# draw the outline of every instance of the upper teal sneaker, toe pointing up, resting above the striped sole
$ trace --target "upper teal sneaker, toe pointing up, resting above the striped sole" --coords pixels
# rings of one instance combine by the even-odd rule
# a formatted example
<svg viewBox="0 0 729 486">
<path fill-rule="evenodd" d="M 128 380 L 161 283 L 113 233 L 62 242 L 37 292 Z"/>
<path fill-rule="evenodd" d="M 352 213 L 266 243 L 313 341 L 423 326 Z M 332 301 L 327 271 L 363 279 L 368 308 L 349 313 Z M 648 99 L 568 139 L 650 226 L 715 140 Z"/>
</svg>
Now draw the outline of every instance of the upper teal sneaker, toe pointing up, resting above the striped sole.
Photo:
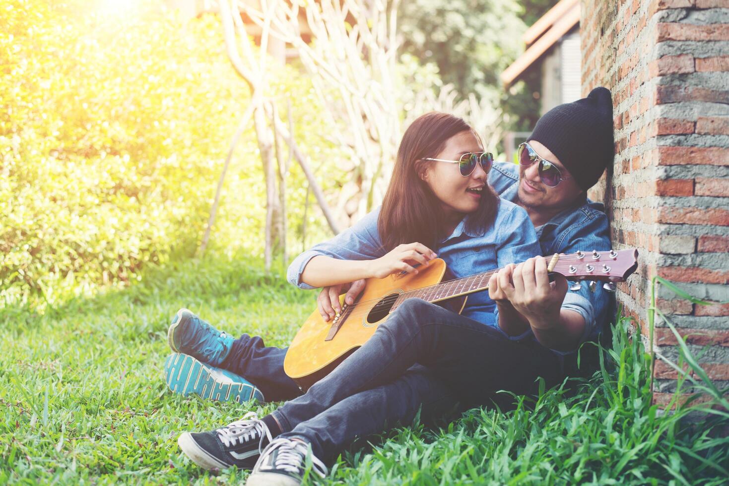
<svg viewBox="0 0 729 486">
<path fill-rule="evenodd" d="M 214 367 L 227 358 L 233 341 L 233 336 L 218 331 L 187 309 L 177 311 L 167 330 L 167 342 L 173 351 L 189 354 Z"/>
</svg>

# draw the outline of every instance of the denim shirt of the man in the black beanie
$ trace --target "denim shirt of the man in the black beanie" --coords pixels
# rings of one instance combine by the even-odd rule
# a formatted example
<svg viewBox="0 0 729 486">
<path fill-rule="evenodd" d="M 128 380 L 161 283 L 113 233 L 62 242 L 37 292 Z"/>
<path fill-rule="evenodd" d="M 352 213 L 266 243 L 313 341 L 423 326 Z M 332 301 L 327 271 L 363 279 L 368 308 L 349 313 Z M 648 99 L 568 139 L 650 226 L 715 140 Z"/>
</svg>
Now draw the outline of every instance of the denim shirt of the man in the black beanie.
<svg viewBox="0 0 729 486">
<path fill-rule="evenodd" d="M 494 162 L 488 174 L 488 184 L 496 193 L 516 202 L 518 200 L 519 166 L 510 162 Z M 577 253 L 580 251 L 609 251 L 610 224 L 604 213 L 604 206 L 585 200 L 572 208 L 555 215 L 549 222 L 537 227 L 542 255 L 555 253 Z M 612 294 L 598 283 L 596 291 L 590 291 L 582 283 L 579 291 L 567 291 L 562 303 L 563 309 L 574 310 L 585 319 L 585 332 L 580 342 L 597 339 L 603 326 L 612 317 Z M 531 330 L 512 339 L 521 339 L 531 334 Z"/>
</svg>

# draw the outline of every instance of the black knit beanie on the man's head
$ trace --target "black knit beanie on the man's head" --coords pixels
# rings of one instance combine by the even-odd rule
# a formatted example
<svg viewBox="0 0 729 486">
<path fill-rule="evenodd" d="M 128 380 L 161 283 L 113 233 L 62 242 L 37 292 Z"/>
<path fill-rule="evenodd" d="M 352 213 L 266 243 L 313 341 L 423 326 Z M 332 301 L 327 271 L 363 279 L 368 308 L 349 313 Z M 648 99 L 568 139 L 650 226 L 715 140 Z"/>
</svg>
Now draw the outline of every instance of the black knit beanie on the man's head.
<svg viewBox="0 0 729 486">
<path fill-rule="evenodd" d="M 541 142 L 557 156 L 586 191 L 612 165 L 612 97 L 596 87 L 587 98 L 564 103 L 547 111 L 527 139 Z"/>
</svg>

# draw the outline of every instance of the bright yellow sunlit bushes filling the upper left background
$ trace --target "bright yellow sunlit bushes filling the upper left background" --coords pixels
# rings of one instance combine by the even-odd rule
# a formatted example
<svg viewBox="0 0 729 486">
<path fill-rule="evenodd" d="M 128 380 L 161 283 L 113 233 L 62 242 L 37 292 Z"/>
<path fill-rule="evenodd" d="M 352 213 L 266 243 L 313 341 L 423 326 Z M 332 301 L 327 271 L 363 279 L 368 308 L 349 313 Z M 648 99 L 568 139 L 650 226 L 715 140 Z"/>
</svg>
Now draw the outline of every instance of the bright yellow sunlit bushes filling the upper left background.
<svg viewBox="0 0 729 486">
<path fill-rule="evenodd" d="M 107 2 L 108 3 L 108 2 Z M 8 0 L 0 12 L 0 307 L 45 305 L 198 246 L 222 161 L 249 100 L 219 21 L 159 1 Z M 295 136 L 343 179 L 308 79 L 281 66 L 271 93 Z M 287 150 L 284 150 L 287 154 Z M 265 186 L 250 127 L 236 149 L 212 246 L 260 253 Z M 316 167 L 316 164 L 315 164 Z M 289 227 L 306 184 L 292 164 Z M 317 225 L 308 212 L 308 232 Z M 298 243 L 300 244 L 300 243 Z"/>
</svg>

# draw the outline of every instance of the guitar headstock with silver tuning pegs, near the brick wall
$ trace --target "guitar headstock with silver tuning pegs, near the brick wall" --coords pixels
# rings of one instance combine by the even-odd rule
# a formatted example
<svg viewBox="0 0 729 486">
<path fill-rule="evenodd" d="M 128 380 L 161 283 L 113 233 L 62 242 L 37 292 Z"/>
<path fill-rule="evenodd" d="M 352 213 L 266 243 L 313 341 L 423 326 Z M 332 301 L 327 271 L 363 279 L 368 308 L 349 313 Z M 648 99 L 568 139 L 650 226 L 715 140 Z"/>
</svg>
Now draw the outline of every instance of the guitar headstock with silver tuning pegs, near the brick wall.
<svg viewBox="0 0 729 486">
<path fill-rule="evenodd" d="M 638 250 L 590 251 L 560 254 L 550 271 L 568 280 L 623 282 L 638 268 Z"/>
</svg>

